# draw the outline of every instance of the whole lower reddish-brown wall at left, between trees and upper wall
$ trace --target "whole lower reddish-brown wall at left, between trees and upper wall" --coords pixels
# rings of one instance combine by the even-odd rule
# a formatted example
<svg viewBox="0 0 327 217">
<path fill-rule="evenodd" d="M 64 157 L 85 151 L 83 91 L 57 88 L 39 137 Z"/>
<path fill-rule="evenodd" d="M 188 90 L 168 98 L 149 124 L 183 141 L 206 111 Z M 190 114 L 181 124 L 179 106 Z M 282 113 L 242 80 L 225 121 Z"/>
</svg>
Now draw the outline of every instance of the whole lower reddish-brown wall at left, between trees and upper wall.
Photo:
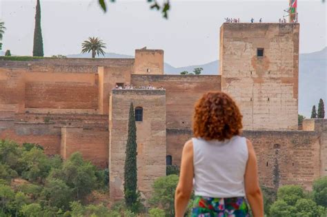
<svg viewBox="0 0 327 217">
<path fill-rule="evenodd" d="M 79 131 L 68 130 L 68 134 L 66 131 L 63 134 L 61 128 L 65 126 Z M 38 143 L 46 154 L 61 154 L 64 158 L 80 151 L 101 167 L 108 165 L 108 136 L 107 115 L 17 113 L 0 121 L 0 139 Z"/>
</svg>

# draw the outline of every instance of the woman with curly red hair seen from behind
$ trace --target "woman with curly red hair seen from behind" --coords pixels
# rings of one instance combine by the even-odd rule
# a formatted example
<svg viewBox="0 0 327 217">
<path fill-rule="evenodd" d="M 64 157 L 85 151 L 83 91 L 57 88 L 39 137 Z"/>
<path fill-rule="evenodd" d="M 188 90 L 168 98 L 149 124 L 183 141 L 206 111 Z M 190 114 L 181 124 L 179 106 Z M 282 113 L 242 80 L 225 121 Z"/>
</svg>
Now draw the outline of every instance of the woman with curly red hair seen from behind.
<svg viewBox="0 0 327 217">
<path fill-rule="evenodd" d="M 252 143 L 240 136 L 242 116 L 223 92 L 208 92 L 195 105 L 194 138 L 186 142 L 175 192 L 175 213 L 184 216 L 194 188 L 192 216 L 264 216 Z"/>
</svg>

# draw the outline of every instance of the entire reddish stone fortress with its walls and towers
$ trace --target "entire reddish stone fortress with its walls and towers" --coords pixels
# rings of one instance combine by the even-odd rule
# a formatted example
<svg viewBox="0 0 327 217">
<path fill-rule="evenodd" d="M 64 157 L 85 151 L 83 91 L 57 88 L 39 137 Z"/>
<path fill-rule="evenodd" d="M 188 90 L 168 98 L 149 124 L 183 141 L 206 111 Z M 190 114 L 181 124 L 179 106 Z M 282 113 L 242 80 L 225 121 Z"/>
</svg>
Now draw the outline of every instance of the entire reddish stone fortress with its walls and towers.
<svg viewBox="0 0 327 217">
<path fill-rule="evenodd" d="M 119 200 L 132 102 L 138 187 L 148 197 L 166 164 L 181 161 L 195 101 L 221 90 L 241 107 L 261 185 L 310 189 L 327 175 L 327 121 L 307 119 L 298 130 L 299 23 L 224 23 L 219 60 L 221 74 L 213 76 L 164 74 L 164 51 L 146 48 L 135 59 L 1 60 L 0 138 L 38 143 L 63 158 L 81 152 L 109 167 L 110 198 Z"/>
</svg>

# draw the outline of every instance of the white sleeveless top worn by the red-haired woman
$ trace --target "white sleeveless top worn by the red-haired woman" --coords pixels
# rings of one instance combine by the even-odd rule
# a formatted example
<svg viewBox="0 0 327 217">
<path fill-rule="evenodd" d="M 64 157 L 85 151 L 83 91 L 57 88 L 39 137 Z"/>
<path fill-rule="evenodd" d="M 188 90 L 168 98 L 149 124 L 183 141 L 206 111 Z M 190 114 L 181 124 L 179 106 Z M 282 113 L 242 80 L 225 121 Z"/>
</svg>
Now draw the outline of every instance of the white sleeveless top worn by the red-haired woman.
<svg viewBox="0 0 327 217">
<path fill-rule="evenodd" d="M 192 142 L 195 195 L 212 198 L 245 196 L 246 138 L 233 136 L 224 142 L 192 138 Z"/>
</svg>

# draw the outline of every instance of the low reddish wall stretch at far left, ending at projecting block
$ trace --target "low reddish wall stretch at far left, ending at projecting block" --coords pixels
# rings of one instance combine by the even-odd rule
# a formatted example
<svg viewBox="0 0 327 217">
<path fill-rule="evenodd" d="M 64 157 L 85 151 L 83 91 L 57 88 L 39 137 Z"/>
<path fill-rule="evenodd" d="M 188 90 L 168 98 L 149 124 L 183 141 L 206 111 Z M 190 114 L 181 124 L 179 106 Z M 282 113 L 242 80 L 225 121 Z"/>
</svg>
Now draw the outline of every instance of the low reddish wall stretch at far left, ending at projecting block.
<svg viewBox="0 0 327 217">
<path fill-rule="evenodd" d="M 61 130 L 53 124 L 0 121 L 0 139 L 23 143 L 37 143 L 46 154 L 60 154 Z"/>
</svg>

